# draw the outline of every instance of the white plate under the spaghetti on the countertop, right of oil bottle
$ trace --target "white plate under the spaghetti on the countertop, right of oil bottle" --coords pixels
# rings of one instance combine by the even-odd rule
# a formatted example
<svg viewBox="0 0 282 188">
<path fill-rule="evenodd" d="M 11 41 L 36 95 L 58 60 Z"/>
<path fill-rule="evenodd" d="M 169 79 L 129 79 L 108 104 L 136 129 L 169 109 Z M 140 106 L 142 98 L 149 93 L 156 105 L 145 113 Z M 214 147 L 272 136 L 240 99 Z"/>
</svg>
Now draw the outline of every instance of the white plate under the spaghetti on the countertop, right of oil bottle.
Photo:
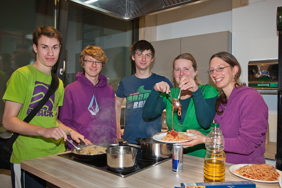
<svg viewBox="0 0 282 188">
<path fill-rule="evenodd" d="M 248 178 L 248 177 L 246 177 L 246 176 L 242 176 L 241 174 L 239 174 L 238 172 L 236 172 L 236 170 L 238 170 L 239 168 L 241 168 L 241 167 L 244 167 L 244 166 L 246 166 L 246 165 L 249 165 L 249 166 L 251 166 L 252 164 L 237 164 L 237 165 L 232 165 L 230 168 L 229 168 L 229 171 L 232 173 L 232 174 L 234 174 L 234 175 L 236 175 L 236 176 L 239 176 L 239 177 L 241 177 L 241 178 L 244 178 L 244 179 L 246 179 L 246 180 L 251 180 L 251 181 L 254 181 L 254 182 L 262 182 L 262 183 L 277 183 L 278 182 L 278 180 L 271 180 L 271 181 L 268 181 L 268 180 L 259 180 L 259 179 L 252 179 L 252 178 Z M 263 164 L 264 165 L 264 164 Z M 268 165 L 269 166 L 269 165 Z M 265 168 L 265 167 L 263 167 L 263 166 L 261 166 L 261 168 Z M 274 168 L 273 168 L 274 169 Z M 282 172 L 281 171 L 279 171 L 279 170 L 277 170 L 277 169 L 274 169 L 276 172 L 278 172 L 278 174 L 280 175 L 280 176 L 282 176 Z M 265 173 L 266 174 L 264 174 L 264 175 L 269 175 L 269 169 L 262 169 L 261 171 L 265 171 Z M 279 178 L 279 177 L 278 177 Z"/>
</svg>

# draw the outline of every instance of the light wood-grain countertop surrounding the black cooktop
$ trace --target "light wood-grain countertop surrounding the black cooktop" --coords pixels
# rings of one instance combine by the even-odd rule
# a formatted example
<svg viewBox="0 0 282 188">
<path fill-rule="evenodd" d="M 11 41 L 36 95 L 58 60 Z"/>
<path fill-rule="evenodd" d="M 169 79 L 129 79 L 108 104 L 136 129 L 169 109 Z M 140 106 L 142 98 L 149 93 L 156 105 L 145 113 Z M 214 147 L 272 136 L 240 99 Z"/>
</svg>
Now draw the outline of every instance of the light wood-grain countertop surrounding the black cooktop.
<svg viewBox="0 0 282 188">
<path fill-rule="evenodd" d="M 174 188 L 180 186 L 181 182 L 203 182 L 204 159 L 189 155 L 183 157 L 183 172 L 181 173 L 172 172 L 172 160 L 168 160 L 126 178 L 57 155 L 22 161 L 21 168 L 62 188 Z M 229 171 L 229 167 L 232 165 L 226 163 L 225 181 L 244 181 L 243 178 L 239 178 Z M 257 188 L 280 188 L 279 183 L 254 183 Z"/>
</svg>

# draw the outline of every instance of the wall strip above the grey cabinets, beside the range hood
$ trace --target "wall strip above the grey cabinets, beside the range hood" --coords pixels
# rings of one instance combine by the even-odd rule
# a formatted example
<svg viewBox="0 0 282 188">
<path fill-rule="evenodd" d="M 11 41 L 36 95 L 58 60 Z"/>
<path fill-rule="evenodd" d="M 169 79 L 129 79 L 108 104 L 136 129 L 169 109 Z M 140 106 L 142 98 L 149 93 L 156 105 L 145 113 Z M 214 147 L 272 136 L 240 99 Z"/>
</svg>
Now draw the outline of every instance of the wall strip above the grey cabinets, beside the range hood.
<svg viewBox="0 0 282 188">
<path fill-rule="evenodd" d="M 210 0 L 157 14 L 157 41 L 232 32 L 232 0 Z"/>
</svg>

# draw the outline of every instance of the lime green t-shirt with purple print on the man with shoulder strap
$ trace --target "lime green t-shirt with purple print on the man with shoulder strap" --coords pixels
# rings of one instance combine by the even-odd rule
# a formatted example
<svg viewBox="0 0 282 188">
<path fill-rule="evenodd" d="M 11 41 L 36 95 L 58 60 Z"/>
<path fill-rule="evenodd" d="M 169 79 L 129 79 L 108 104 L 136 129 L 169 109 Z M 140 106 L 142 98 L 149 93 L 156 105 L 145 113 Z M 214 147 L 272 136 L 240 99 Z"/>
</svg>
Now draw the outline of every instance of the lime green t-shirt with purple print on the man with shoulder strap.
<svg viewBox="0 0 282 188">
<path fill-rule="evenodd" d="M 45 74 L 33 65 L 27 65 L 17 69 L 7 82 L 7 89 L 3 100 L 14 101 L 23 104 L 18 118 L 24 120 L 27 114 L 38 104 L 47 93 L 52 80 L 51 73 Z M 41 110 L 29 122 L 41 127 L 58 127 L 56 121 L 56 107 L 63 105 L 64 87 L 60 84 L 55 94 L 41 108 Z M 56 141 L 54 138 L 42 136 L 29 136 L 20 134 L 13 144 L 11 163 L 20 163 L 23 160 L 47 156 L 65 151 L 63 139 Z"/>
</svg>

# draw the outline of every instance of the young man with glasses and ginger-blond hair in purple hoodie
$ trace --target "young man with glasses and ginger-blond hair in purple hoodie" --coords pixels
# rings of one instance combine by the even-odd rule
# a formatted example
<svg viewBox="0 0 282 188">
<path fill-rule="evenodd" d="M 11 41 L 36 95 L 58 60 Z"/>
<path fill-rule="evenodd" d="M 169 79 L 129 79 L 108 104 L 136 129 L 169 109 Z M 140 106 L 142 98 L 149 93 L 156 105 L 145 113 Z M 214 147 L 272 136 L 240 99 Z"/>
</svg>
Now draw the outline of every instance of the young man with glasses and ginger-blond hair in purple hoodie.
<svg viewBox="0 0 282 188">
<path fill-rule="evenodd" d="M 114 90 L 100 74 L 106 62 L 107 57 L 100 47 L 86 46 L 80 54 L 83 72 L 78 72 L 76 81 L 65 88 L 60 108 L 61 122 L 83 133 L 86 144 L 116 138 Z M 72 147 L 69 144 L 69 148 Z"/>
</svg>

